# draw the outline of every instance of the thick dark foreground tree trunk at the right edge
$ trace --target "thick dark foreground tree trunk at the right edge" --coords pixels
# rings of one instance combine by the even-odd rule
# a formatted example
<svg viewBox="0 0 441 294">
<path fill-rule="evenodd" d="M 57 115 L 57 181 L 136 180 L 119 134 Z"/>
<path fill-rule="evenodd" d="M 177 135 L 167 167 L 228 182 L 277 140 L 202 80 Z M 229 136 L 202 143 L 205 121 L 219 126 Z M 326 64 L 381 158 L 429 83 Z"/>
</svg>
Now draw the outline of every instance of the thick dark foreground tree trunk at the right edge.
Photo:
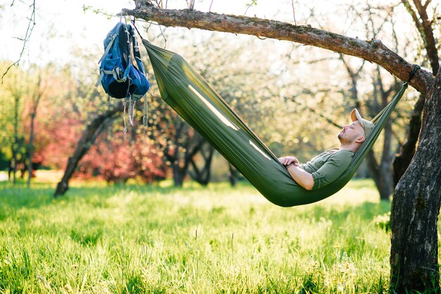
<svg viewBox="0 0 441 294">
<path fill-rule="evenodd" d="M 441 75 L 430 87 L 420 141 L 392 200 L 391 288 L 439 290 L 437 219 L 441 197 Z M 428 292 L 425 292 L 428 293 Z"/>
</svg>

